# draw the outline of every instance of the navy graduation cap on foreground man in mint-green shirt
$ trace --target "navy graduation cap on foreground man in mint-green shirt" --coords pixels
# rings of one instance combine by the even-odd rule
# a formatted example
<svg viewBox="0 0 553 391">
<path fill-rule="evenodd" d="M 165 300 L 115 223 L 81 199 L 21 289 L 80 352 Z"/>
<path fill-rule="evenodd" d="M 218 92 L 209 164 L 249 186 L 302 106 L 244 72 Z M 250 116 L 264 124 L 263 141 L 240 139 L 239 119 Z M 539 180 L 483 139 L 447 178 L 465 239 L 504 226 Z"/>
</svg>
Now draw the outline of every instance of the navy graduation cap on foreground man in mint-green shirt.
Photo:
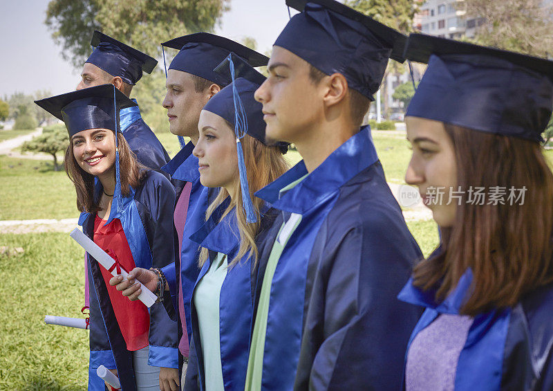
<svg viewBox="0 0 553 391">
<path fill-rule="evenodd" d="M 274 42 L 370 100 L 378 91 L 388 59 L 404 62 L 406 37 L 334 0 L 286 0 L 301 13 L 288 21 Z"/>
</svg>

